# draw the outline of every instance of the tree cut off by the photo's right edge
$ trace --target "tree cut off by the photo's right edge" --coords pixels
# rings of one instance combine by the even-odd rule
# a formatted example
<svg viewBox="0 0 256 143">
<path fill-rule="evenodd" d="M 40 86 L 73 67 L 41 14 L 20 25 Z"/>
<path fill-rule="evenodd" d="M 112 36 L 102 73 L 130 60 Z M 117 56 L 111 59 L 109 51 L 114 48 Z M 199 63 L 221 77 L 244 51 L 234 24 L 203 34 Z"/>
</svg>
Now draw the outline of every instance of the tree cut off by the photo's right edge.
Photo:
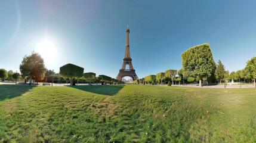
<svg viewBox="0 0 256 143">
<path fill-rule="evenodd" d="M 251 60 L 248 60 L 246 62 L 245 70 L 248 76 L 251 77 L 252 80 L 254 80 L 254 86 L 256 88 L 256 57 L 252 57 Z"/>
</svg>

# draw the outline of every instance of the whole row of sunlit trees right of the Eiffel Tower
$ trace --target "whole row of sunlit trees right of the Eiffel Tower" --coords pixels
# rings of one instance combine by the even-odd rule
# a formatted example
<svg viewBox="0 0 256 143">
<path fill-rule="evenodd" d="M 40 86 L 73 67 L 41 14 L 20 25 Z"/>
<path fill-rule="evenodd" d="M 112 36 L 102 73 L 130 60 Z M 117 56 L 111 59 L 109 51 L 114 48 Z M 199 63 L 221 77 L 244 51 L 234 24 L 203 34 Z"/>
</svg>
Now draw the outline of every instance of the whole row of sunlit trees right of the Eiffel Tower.
<svg viewBox="0 0 256 143">
<path fill-rule="evenodd" d="M 251 60 L 248 60 L 244 69 L 229 73 L 220 60 L 218 60 L 218 64 L 215 64 L 209 43 L 203 43 L 184 51 L 181 54 L 181 60 L 183 68 L 180 70 L 169 69 L 165 72 L 146 76 L 140 80 L 134 81 L 134 83 L 167 84 L 171 82 L 173 85 L 174 82 L 178 84 L 180 84 L 180 82 L 183 82 L 183 84 L 199 82 L 199 86 L 202 86 L 202 82 L 221 83 L 233 79 L 236 82 L 253 81 L 256 87 L 256 57 L 252 57 Z"/>
</svg>

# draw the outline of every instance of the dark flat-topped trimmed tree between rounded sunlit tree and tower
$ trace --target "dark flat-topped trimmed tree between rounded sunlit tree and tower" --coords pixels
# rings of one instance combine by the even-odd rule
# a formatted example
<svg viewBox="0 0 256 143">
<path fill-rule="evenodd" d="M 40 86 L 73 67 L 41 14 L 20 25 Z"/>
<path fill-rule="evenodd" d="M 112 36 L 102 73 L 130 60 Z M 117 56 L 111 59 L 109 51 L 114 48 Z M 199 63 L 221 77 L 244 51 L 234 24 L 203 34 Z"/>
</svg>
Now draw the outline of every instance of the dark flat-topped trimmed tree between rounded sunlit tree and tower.
<svg viewBox="0 0 256 143">
<path fill-rule="evenodd" d="M 70 77 L 70 85 L 73 85 L 73 78 L 82 77 L 84 75 L 84 68 L 69 63 L 60 67 L 60 74 L 64 77 Z"/>
</svg>

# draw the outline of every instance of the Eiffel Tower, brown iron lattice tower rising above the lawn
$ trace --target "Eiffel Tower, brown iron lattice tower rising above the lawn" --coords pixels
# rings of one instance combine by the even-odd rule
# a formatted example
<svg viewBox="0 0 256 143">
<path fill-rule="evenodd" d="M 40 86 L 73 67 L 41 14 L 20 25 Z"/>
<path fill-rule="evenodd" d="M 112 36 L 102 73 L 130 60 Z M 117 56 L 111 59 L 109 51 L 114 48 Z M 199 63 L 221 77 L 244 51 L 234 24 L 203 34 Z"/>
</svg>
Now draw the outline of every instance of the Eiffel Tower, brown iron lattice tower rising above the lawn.
<svg viewBox="0 0 256 143">
<path fill-rule="evenodd" d="M 129 69 L 125 69 L 125 66 L 129 65 Z M 121 69 L 119 70 L 117 80 L 122 80 L 123 77 L 129 76 L 132 80 L 138 80 L 138 76 L 135 73 L 135 70 L 132 67 L 131 55 L 129 53 L 129 29 L 127 27 L 127 43 L 125 46 L 125 57 Z"/>
</svg>

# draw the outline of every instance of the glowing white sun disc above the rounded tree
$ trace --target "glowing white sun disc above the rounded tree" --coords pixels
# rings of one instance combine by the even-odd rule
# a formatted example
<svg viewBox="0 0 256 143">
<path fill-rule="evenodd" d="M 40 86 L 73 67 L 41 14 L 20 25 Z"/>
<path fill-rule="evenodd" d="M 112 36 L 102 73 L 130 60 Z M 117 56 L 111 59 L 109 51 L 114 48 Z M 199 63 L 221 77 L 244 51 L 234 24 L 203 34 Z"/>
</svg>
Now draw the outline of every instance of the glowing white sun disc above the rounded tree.
<svg viewBox="0 0 256 143">
<path fill-rule="evenodd" d="M 56 47 L 52 41 L 45 39 L 38 43 L 36 52 L 38 52 L 44 60 L 53 60 L 55 55 Z"/>
</svg>

